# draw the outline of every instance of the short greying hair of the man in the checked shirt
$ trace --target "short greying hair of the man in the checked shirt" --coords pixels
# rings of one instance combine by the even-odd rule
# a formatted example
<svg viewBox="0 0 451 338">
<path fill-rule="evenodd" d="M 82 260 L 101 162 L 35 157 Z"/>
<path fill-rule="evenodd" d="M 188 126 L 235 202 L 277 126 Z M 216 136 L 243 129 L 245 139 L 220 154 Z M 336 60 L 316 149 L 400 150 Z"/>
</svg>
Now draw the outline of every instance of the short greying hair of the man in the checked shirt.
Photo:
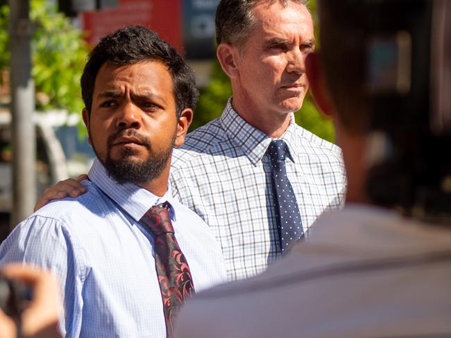
<svg viewBox="0 0 451 338">
<path fill-rule="evenodd" d="M 299 3 L 307 7 L 308 0 L 221 0 L 216 8 L 216 42 L 240 47 L 252 35 L 255 19 L 253 8 L 260 3 L 268 6 L 279 2 L 283 7 Z"/>
</svg>

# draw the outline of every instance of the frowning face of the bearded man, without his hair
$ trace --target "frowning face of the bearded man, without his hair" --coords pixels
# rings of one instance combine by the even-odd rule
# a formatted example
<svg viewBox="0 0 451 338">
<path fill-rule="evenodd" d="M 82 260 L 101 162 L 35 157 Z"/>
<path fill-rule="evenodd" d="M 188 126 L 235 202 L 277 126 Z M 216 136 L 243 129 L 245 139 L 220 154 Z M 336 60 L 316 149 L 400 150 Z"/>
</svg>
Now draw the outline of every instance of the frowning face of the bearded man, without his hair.
<svg viewBox="0 0 451 338">
<path fill-rule="evenodd" d="M 176 102 L 167 67 L 156 61 L 103 64 L 88 124 L 97 157 L 120 183 L 143 183 L 169 168 Z"/>
</svg>

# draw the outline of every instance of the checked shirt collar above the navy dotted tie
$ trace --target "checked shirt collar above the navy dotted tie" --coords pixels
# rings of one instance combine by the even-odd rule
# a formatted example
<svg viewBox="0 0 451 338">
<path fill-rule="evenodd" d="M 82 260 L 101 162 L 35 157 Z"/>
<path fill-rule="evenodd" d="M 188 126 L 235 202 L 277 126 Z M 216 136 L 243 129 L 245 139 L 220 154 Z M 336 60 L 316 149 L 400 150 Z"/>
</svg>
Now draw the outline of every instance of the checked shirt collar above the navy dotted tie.
<svg viewBox="0 0 451 338">
<path fill-rule="evenodd" d="M 262 160 L 269 147 L 269 143 L 273 139 L 244 121 L 235 109 L 233 109 L 232 98 L 229 98 L 226 108 L 223 110 L 221 125 L 230 139 L 233 139 L 241 150 L 243 150 L 249 161 L 254 166 L 257 166 L 257 163 Z M 296 122 L 294 121 L 293 113 L 291 113 L 290 124 L 280 139 L 287 143 L 289 159 L 294 162 L 295 157 L 293 154 L 296 153 L 294 151 L 296 149 Z"/>
</svg>

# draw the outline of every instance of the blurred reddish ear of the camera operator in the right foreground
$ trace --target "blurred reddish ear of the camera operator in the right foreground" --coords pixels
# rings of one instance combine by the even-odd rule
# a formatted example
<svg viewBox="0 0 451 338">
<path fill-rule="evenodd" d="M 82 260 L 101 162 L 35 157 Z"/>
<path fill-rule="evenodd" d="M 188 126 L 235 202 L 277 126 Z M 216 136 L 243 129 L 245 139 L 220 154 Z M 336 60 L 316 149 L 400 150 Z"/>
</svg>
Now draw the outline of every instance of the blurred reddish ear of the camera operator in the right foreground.
<svg viewBox="0 0 451 338">
<path fill-rule="evenodd" d="M 307 78 L 309 79 L 310 92 L 314 98 L 316 106 L 326 116 L 333 117 L 334 109 L 332 100 L 325 83 L 325 74 L 321 68 L 321 62 L 317 52 L 307 55 L 307 60 L 305 60 L 305 69 Z"/>
</svg>

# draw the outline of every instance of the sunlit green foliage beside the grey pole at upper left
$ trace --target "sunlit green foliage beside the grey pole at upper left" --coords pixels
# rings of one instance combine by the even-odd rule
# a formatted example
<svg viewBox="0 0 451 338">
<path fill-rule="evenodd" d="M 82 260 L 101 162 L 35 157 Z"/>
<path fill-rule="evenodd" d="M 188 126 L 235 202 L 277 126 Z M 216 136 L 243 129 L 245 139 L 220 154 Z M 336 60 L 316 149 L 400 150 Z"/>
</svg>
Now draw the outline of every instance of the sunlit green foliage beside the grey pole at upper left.
<svg viewBox="0 0 451 338">
<path fill-rule="evenodd" d="M 0 8 L 0 71 L 9 66 L 8 6 Z M 83 108 L 80 76 L 88 52 L 82 33 L 56 11 L 55 1 L 31 0 L 35 26 L 32 42 L 36 109 Z M 8 52 L 6 52 L 8 51 Z"/>
</svg>

